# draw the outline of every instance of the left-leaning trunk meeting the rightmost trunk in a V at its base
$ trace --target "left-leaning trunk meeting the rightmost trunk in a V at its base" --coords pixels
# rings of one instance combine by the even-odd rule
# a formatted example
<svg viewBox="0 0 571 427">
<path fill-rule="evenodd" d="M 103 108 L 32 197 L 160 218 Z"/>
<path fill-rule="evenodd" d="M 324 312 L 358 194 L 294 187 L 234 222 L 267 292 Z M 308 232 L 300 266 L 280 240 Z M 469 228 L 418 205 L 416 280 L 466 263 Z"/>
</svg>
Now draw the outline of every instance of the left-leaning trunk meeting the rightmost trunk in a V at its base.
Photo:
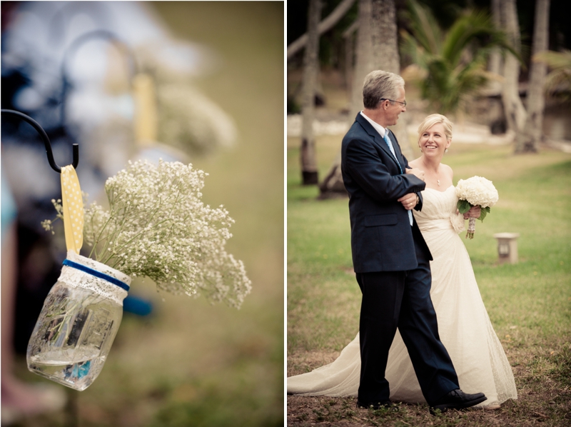
<svg viewBox="0 0 571 427">
<path fill-rule="evenodd" d="M 515 0 L 502 0 L 500 11 L 502 13 L 502 25 L 512 42 L 512 46 L 517 51 L 520 51 L 520 26 L 517 23 Z M 512 54 L 506 55 L 503 75 L 505 81 L 502 90 L 502 103 L 504 104 L 507 129 L 517 133 L 518 129 L 523 128 L 526 112 L 520 99 L 518 88 L 520 63 Z"/>
</svg>

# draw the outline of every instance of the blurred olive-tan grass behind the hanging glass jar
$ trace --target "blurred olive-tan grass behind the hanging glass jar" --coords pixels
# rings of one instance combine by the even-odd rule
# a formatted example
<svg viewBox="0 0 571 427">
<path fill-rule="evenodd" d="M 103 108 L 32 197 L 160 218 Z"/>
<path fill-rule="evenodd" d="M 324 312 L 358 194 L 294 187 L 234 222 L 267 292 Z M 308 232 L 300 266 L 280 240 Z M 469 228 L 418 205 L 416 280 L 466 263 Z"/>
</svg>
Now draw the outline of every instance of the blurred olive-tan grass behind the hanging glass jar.
<svg viewBox="0 0 571 427">
<path fill-rule="evenodd" d="M 236 220 L 228 252 L 244 261 L 253 291 L 238 311 L 134 283 L 132 293 L 153 301 L 153 316 L 123 316 L 101 375 L 70 391 L 75 422 L 56 413 L 18 426 L 283 426 L 283 4 L 148 6 L 173 36 L 221 59 L 195 83 L 232 116 L 239 140 L 192 161 L 209 174 L 206 203 L 224 204 Z M 25 361 L 19 375 L 43 381 Z"/>
</svg>

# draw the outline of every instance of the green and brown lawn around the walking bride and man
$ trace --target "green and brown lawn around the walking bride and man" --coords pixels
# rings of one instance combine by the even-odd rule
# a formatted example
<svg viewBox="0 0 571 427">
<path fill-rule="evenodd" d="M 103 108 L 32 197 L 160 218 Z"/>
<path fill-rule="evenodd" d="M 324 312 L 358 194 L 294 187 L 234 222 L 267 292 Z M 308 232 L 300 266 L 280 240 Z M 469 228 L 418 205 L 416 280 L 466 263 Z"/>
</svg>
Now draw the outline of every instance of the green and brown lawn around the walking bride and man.
<svg viewBox="0 0 571 427">
<path fill-rule="evenodd" d="M 320 176 L 340 136 L 319 138 Z M 490 319 L 515 374 L 517 401 L 498 411 L 429 416 L 425 406 L 355 408 L 354 398 L 288 396 L 288 425 L 568 426 L 571 424 L 571 155 L 511 146 L 456 144 L 445 156 L 455 182 L 494 182 L 500 201 L 465 244 Z M 288 141 L 288 376 L 330 363 L 358 331 L 360 291 L 350 256 L 347 199 L 317 201 L 300 185 Z M 520 233 L 519 263 L 497 263 L 494 233 Z"/>
</svg>

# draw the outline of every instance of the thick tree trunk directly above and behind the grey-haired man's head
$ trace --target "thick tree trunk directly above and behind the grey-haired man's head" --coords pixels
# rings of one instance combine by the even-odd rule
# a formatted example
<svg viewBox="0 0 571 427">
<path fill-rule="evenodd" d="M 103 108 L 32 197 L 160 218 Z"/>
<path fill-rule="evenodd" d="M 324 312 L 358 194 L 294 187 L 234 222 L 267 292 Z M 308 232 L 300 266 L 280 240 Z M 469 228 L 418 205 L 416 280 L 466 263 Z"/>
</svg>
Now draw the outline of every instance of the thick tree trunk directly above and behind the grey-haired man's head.
<svg viewBox="0 0 571 427">
<path fill-rule="evenodd" d="M 395 0 L 373 0 L 372 39 L 373 66 L 368 72 L 384 70 L 400 74 Z M 405 157 L 413 160 L 414 151 L 408 137 L 407 125 L 406 114 L 400 114 L 397 124 L 392 126 L 391 130 L 399 139 L 400 149 Z"/>
</svg>

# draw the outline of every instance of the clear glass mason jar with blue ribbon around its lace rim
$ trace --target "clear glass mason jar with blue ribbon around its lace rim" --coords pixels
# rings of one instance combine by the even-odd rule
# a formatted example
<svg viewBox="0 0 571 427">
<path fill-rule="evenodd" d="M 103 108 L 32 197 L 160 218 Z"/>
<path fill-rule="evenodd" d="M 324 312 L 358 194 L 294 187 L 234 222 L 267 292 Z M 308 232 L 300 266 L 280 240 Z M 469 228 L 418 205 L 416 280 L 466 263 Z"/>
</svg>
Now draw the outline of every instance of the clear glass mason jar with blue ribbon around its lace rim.
<svg viewBox="0 0 571 427">
<path fill-rule="evenodd" d="M 29 370 L 75 390 L 89 387 L 117 334 L 130 283 L 121 271 L 69 251 L 31 334 Z"/>
</svg>

